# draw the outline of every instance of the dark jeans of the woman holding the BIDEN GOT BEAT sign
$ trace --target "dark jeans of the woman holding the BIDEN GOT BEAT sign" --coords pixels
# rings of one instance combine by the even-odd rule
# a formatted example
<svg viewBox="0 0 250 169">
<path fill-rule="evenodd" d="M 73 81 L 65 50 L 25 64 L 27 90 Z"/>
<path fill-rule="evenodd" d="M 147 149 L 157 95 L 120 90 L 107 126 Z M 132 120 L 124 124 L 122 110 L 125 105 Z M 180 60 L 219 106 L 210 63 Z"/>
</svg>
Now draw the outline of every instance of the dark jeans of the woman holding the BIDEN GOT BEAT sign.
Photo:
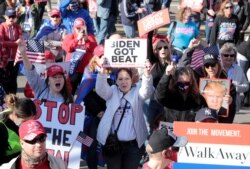
<svg viewBox="0 0 250 169">
<path fill-rule="evenodd" d="M 142 155 L 145 152 L 145 146 L 138 147 L 137 142 L 122 142 L 122 151 L 113 156 L 104 156 L 108 169 L 137 169 Z"/>
</svg>

